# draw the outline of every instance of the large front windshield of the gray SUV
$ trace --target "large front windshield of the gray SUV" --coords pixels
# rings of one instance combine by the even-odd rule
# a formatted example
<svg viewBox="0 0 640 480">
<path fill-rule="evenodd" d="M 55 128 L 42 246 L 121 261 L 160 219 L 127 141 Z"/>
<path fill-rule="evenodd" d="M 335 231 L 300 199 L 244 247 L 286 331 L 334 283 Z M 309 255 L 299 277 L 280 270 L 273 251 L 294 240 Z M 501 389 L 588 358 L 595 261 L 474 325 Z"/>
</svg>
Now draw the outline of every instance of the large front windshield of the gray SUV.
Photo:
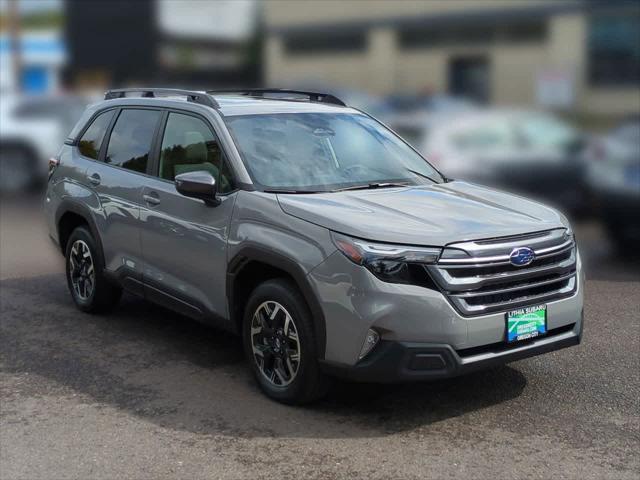
<svg viewBox="0 0 640 480">
<path fill-rule="evenodd" d="M 253 181 L 265 190 L 442 181 L 419 154 L 363 114 L 277 113 L 225 121 Z"/>
</svg>

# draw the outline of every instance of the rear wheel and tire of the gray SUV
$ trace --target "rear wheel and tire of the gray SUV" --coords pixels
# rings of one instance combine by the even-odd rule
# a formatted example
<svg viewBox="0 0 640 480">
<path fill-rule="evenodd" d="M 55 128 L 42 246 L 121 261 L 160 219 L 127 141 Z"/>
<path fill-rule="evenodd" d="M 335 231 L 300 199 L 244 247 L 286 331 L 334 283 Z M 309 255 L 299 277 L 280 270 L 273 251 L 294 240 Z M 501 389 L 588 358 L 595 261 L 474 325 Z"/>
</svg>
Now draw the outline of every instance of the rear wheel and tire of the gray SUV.
<svg viewBox="0 0 640 480">
<path fill-rule="evenodd" d="M 105 277 L 101 258 L 93 235 L 86 227 L 77 227 L 67 241 L 65 270 L 73 303 L 83 312 L 109 311 L 122 295 L 122 289 Z"/>
</svg>

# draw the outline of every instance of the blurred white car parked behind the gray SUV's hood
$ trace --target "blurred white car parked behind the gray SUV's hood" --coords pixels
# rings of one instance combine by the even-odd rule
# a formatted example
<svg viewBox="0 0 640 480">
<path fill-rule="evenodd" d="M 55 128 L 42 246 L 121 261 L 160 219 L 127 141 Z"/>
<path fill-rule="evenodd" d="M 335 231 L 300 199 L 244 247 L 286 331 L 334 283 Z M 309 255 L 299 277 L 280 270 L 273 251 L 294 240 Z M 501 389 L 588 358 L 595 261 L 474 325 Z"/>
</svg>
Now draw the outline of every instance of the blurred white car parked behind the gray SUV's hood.
<svg viewBox="0 0 640 480">
<path fill-rule="evenodd" d="M 577 213 L 586 205 L 583 135 L 553 115 L 467 109 L 387 120 L 451 178 L 504 188 Z"/>
</svg>

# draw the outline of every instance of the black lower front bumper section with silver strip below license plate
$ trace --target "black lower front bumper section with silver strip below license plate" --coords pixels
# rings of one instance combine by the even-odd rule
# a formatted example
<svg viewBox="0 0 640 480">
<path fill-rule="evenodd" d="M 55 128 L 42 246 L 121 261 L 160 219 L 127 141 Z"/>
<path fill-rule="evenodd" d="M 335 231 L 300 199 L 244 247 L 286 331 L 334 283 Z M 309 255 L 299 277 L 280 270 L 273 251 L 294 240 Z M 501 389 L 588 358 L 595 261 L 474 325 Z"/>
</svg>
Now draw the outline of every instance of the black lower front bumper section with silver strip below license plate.
<svg viewBox="0 0 640 480">
<path fill-rule="evenodd" d="M 582 316 L 582 315 L 581 315 Z M 325 373 L 353 381 L 395 383 L 456 377 L 476 370 L 578 345 L 582 318 L 568 327 L 550 330 L 544 337 L 507 347 L 496 343 L 456 351 L 450 345 L 382 341 L 370 356 L 354 366 L 322 362 Z"/>
</svg>

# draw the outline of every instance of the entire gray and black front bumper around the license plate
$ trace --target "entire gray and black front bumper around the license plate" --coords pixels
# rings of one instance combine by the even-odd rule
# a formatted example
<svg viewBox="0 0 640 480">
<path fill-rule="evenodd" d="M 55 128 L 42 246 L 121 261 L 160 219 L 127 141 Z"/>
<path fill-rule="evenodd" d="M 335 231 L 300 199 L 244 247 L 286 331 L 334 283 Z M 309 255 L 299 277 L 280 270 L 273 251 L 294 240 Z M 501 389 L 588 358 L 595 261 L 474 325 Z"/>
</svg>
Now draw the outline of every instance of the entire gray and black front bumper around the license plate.
<svg viewBox="0 0 640 480">
<path fill-rule="evenodd" d="M 492 361 L 506 363 L 522 355 L 577 344 L 584 301 L 581 263 L 578 254 L 577 285 L 571 296 L 541 302 L 547 305 L 550 334 L 505 349 L 504 312 L 463 316 L 440 291 L 382 282 L 336 252 L 307 277 L 325 318 L 325 355 L 321 360 L 327 371 L 342 376 L 411 380 L 457 375 Z M 359 360 L 370 328 L 380 334 L 381 341 Z M 434 371 L 411 371 L 408 358 L 432 350 L 440 355 L 444 366 L 431 369 Z M 381 360 L 383 357 L 387 360 Z"/>
</svg>

